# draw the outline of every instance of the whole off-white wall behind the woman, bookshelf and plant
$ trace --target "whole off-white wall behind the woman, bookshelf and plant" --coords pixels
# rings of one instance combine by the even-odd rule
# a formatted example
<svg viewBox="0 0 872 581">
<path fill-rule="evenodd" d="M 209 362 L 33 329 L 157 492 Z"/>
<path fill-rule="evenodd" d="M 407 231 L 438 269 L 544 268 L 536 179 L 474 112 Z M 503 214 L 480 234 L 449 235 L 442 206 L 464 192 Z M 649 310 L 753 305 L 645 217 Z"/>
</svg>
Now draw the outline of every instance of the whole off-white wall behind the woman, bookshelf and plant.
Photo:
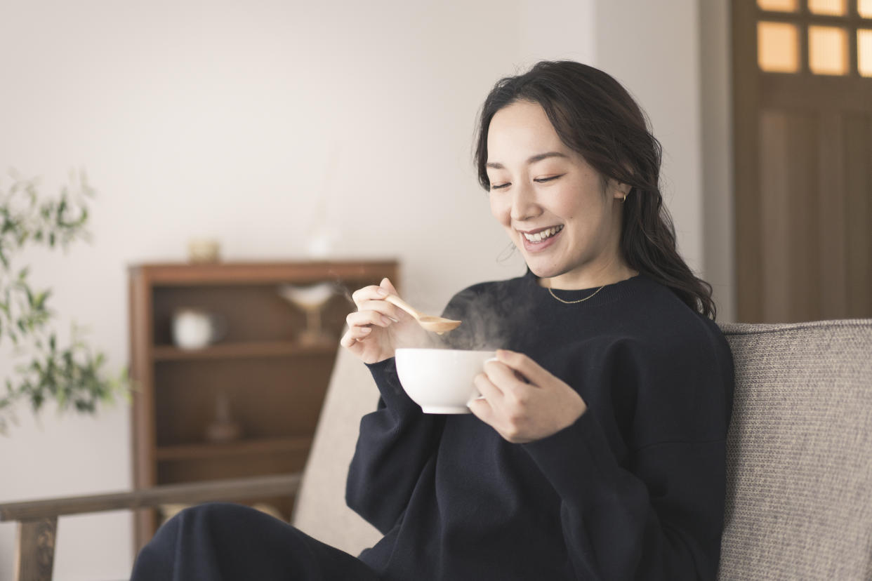
<svg viewBox="0 0 872 581">
<path fill-rule="evenodd" d="M 460 287 L 522 272 L 517 254 L 496 260 L 507 240 L 471 147 L 494 81 L 542 57 L 598 64 L 640 99 L 700 267 L 696 4 L 652 4 L 0 0 L 0 168 L 42 175 L 51 193 L 83 166 L 99 190 L 93 243 L 31 253 L 32 276 L 117 369 L 126 265 L 182 260 L 195 235 L 219 238 L 226 260 L 303 257 L 322 203 L 334 256 L 399 258 L 410 301 L 439 310 Z M 0 438 L 0 501 L 130 485 L 124 405 L 19 415 Z M 62 518 L 55 578 L 124 578 L 131 528 L 123 512 Z M 0 581 L 14 536 L 0 525 Z"/>
</svg>

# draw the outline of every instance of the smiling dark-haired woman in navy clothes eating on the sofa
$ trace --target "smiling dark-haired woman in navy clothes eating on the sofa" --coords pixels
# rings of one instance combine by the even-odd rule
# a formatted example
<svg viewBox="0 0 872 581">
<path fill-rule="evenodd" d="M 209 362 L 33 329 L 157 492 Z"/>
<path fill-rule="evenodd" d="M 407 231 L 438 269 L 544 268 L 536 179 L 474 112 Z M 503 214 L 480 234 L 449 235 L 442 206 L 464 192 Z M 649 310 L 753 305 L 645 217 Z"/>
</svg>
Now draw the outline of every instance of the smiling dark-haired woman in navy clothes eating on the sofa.
<svg viewBox="0 0 872 581">
<path fill-rule="evenodd" d="M 711 287 L 676 252 L 642 112 L 602 71 L 536 64 L 491 91 L 475 161 L 528 266 L 446 307 L 464 321 L 450 346 L 500 349 L 476 378 L 482 398 L 472 415 L 423 414 L 392 356 L 429 338 L 384 301 L 389 280 L 359 289 L 342 345 L 381 400 L 361 422 L 347 501 L 385 537 L 354 559 L 269 524 L 281 539 L 269 574 L 715 578 L 732 358 Z M 209 553 L 206 530 L 255 519 L 218 507 L 168 528 L 176 554 L 180 539 Z"/>
</svg>

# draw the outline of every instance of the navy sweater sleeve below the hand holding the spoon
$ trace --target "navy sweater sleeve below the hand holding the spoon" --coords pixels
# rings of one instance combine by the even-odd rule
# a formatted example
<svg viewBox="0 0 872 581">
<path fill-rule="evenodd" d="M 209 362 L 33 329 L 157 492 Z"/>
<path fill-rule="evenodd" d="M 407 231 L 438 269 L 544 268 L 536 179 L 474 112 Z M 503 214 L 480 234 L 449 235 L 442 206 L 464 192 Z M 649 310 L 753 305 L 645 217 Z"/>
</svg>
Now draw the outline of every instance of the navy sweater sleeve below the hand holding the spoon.
<svg viewBox="0 0 872 581">
<path fill-rule="evenodd" d="M 403 515 L 421 471 L 439 445 L 444 418 L 424 414 L 405 394 L 394 359 L 367 365 L 380 398 L 364 415 L 345 502 L 383 534 Z"/>
</svg>

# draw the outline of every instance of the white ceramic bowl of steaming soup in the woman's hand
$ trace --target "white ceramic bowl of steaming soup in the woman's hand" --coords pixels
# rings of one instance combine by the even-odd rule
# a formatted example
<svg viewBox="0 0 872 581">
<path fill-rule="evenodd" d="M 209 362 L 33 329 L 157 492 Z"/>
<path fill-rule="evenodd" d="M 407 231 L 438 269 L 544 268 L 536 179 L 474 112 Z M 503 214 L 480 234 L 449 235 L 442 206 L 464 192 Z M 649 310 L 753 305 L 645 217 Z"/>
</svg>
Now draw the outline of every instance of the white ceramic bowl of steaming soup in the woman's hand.
<svg viewBox="0 0 872 581">
<path fill-rule="evenodd" d="M 475 375 L 495 356 L 494 351 L 399 348 L 397 375 L 426 414 L 468 414 L 467 402 L 479 396 Z"/>
</svg>

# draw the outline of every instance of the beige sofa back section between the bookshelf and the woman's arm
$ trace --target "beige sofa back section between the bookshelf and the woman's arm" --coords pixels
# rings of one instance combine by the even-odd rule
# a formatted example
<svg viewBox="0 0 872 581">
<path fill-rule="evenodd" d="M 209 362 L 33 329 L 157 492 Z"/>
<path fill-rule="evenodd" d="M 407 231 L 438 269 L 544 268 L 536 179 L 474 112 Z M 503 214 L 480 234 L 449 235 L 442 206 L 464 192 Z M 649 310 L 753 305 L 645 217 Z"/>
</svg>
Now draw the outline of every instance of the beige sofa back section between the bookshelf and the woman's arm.
<svg viewBox="0 0 872 581">
<path fill-rule="evenodd" d="M 376 409 L 378 388 L 366 366 L 339 348 L 291 522 L 326 544 L 357 555 L 381 534 L 345 505 L 345 479 L 360 418 Z"/>
</svg>

